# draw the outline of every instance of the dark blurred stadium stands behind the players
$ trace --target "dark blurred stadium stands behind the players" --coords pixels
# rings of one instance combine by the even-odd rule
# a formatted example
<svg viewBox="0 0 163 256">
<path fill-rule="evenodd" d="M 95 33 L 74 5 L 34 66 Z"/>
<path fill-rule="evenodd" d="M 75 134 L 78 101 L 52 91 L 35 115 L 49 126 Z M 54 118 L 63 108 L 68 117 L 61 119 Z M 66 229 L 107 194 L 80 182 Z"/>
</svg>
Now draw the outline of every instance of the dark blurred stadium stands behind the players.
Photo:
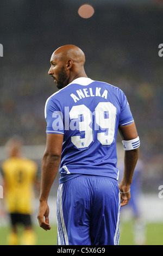
<svg viewBox="0 0 163 256">
<path fill-rule="evenodd" d="M 46 142 L 44 106 L 47 97 L 57 92 L 47 75 L 49 59 L 59 46 L 77 45 L 86 56 L 86 74 L 120 87 L 127 95 L 145 164 L 142 215 L 148 223 L 162 224 L 163 199 L 158 196 L 163 185 L 163 57 L 158 54 L 158 46 L 163 44 L 162 2 L 87 0 L 95 14 L 83 19 L 78 15 L 80 5 L 85 4 L 82 0 L 2 0 L 0 161 L 6 157 L 5 142 L 17 134 L 24 139 L 26 156 L 40 166 Z M 121 145 L 120 137 L 117 143 Z M 52 209 L 58 178 L 51 191 Z M 54 215 L 52 210 L 55 224 Z M 7 224 L 8 219 L 1 217 L 0 229 Z"/>
</svg>

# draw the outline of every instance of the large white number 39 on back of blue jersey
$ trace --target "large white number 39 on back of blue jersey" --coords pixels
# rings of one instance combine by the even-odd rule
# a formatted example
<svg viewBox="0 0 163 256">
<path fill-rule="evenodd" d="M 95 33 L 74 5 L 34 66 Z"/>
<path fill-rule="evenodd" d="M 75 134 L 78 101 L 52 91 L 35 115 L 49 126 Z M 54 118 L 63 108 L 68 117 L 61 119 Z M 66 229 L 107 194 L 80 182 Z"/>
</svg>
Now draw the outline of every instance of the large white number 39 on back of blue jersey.
<svg viewBox="0 0 163 256">
<path fill-rule="evenodd" d="M 79 120 L 79 132 L 85 135 L 84 138 L 81 135 L 71 137 L 72 143 L 79 150 L 89 148 L 94 142 L 93 115 L 95 115 L 93 129 L 97 130 L 97 139 L 102 146 L 110 147 L 115 141 L 117 109 L 111 102 L 99 102 L 93 113 L 85 105 L 73 106 L 70 111 L 70 119 Z"/>
</svg>

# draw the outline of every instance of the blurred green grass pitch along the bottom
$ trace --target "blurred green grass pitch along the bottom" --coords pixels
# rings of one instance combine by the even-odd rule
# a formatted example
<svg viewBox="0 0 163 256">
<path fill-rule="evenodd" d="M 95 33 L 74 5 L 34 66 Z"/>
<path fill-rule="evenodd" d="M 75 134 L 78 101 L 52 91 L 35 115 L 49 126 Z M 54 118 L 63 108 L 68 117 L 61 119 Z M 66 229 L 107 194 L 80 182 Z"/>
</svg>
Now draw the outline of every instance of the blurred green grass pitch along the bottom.
<svg viewBox="0 0 163 256">
<path fill-rule="evenodd" d="M 57 245 L 57 227 L 52 225 L 52 229 L 45 231 L 39 226 L 34 226 L 37 235 L 37 245 Z M 7 245 L 9 227 L 0 227 L 0 245 Z M 20 236 L 22 230 L 19 230 Z M 163 223 L 148 223 L 146 225 L 146 245 L 163 245 Z M 120 232 L 120 245 L 135 245 L 133 236 L 133 223 L 123 223 Z"/>
</svg>

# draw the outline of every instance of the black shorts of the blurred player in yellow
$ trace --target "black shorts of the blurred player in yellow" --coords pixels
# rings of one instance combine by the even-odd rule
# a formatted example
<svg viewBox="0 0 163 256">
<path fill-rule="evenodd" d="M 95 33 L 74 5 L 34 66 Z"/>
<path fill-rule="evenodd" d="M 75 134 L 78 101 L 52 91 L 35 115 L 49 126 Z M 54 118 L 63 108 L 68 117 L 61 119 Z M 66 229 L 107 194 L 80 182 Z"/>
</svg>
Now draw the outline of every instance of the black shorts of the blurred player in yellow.
<svg viewBox="0 0 163 256">
<path fill-rule="evenodd" d="M 24 226 L 32 225 L 31 216 L 29 214 L 10 214 L 11 224 L 23 224 Z"/>
</svg>

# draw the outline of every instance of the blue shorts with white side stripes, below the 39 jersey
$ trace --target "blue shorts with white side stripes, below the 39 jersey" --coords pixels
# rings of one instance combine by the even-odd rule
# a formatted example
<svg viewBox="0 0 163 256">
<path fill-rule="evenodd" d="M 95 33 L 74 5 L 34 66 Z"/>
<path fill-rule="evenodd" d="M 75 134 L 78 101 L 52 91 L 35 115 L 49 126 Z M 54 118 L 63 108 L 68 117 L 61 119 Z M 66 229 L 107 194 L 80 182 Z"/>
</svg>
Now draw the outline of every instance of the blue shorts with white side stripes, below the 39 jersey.
<svg viewBox="0 0 163 256">
<path fill-rule="evenodd" d="M 81 175 L 60 184 L 58 245 L 118 245 L 120 205 L 114 179 Z"/>
</svg>

